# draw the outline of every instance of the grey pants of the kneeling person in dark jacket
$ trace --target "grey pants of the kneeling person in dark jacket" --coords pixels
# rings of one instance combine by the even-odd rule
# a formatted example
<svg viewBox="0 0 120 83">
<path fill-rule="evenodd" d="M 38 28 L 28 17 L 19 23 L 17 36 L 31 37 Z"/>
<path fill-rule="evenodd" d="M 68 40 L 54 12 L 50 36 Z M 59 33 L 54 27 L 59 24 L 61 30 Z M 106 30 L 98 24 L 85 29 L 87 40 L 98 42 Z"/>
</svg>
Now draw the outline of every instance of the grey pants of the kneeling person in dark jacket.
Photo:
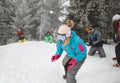
<svg viewBox="0 0 120 83">
<path fill-rule="evenodd" d="M 96 51 L 98 51 L 98 53 L 100 54 L 100 57 L 106 57 L 105 51 L 102 46 L 101 47 L 92 47 L 91 46 L 91 48 L 88 52 L 88 55 L 93 56 Z"/>
</svg>

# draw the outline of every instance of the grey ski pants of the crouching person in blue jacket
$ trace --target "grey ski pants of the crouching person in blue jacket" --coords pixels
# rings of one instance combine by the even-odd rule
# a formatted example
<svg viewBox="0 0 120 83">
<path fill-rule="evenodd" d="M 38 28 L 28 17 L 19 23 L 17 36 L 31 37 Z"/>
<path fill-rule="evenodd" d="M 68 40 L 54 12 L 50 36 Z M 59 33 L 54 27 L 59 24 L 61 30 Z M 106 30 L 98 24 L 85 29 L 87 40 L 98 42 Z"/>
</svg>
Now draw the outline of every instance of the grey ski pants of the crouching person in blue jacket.
<svg viewBox="0 0 120 83">
<path fill-rule="evenodd" d="M 84 58 L 82 61 L 77 62 L 76 65 L 72 69 L 67 70 L 68 62 L 71 60 L 71 58 L 67 55 L 64 57 L 62 64 L 65 69 L 65 75 L 67 76 L 66 78 L 67 83 L 76 83 L 75 76 L 78 70 L 81 68 L 82 64 L 84 63 L 85 59 L 86 58 Z"/>
</svg>

